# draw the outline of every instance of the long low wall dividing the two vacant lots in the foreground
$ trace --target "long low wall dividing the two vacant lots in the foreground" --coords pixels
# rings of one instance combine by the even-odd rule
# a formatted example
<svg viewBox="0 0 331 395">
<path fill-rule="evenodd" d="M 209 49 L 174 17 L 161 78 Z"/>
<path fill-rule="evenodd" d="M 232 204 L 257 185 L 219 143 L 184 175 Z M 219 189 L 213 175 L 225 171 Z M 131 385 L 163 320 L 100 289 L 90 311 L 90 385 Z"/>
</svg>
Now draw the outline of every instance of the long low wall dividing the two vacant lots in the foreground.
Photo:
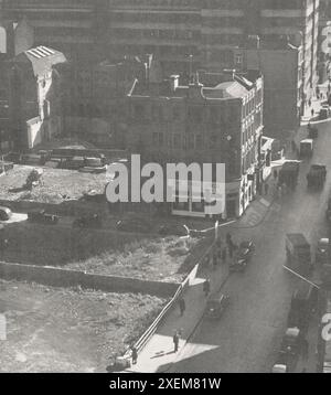
<svg viewBox="0 0 331 395">
<path fill-rule="evenodd" d="M 0 263 L 0 277 L 6 280 L 34 281 L 52 287 L 77 287 L 119 293 L 148 293 L 172 297 L 179 284 L 147 281 L 137 278 L 102 276 L 53 267 Z"/>
</svg>

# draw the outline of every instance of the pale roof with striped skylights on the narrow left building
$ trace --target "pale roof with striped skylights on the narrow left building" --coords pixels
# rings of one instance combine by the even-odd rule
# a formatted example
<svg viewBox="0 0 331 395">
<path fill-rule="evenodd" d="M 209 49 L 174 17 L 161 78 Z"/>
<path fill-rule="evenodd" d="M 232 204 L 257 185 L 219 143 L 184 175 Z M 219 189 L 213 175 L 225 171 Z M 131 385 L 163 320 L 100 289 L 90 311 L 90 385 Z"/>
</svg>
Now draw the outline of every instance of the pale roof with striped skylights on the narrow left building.
<svg viewBox="0 0 331 395">
<path fill-rule="evenodd" d="M 14 63 L 31 63 L 34 75 L 41 75 L 45 71 L 51 71 L 55 64 L 65 63 L 66 57 L 60 51 L 40 45 L 20 53 L 13 61 Z"/>
</svg>

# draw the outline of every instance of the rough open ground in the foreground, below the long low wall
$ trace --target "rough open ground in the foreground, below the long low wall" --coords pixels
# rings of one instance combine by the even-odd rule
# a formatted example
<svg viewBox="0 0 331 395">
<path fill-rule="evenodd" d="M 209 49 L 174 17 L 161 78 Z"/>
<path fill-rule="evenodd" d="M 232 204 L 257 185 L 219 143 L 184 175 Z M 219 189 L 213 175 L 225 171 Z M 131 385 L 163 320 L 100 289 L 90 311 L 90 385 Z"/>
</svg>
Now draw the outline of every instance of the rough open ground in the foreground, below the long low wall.
<svg viewBox="0 0 331 395">
<path fill-rule="evenodd" d="M 0 372 L 105 372 L 167 300 L 0 280 Z"/>
</svg>

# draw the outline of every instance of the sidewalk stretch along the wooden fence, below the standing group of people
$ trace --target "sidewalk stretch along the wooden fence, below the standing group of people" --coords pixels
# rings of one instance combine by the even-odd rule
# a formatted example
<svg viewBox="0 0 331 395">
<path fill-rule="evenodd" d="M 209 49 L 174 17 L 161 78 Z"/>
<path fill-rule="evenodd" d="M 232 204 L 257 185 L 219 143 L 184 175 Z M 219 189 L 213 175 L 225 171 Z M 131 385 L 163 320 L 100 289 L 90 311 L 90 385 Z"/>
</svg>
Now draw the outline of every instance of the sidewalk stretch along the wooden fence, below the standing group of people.
<svg viewBox="0 0 331 395">
<path fill-rule="evenodd" d="M 203 293 L 203 282 L 210 278 L 211 293 L 220 291 L 228 277 L 228 264 L 218 264 L 216 269 L 209 265 L 202 273 L 194 278 L 184 292 L 186 309 L 183 317 L 180 316 L 179 307 L 171 310 L 163 324 L 152 335 L 146 346 L 138 355 L 137 364 L 131 365 L 125 372 L 157 373 L 167 372 L 171 364 L 177 361 L 181 350 L 184 348 L 190 337 L 203 318 L 206 298 Z M 175 353 L 172 337 L 175 331 L 180 331 L 179 350 Z"/>
</svg>

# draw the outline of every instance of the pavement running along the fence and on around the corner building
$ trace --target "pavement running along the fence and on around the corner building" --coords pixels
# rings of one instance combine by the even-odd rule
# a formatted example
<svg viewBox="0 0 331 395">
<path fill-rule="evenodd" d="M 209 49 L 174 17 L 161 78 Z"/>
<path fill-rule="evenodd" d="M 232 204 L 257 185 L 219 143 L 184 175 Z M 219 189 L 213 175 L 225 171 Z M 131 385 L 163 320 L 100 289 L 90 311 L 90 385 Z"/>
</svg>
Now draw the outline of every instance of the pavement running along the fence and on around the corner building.
<svg viewBox="0 0 331 395">
<path fill-rule="evenodd" d="M 273 185 L 273 178 L 270 177 L 267 182 Z M 271 191 L 271 186 L 269 191 Z M 274 202 L 271 193 L 265 196 L 258 196 L 252 202 L 245 214 L 237 222 L 228 226 L 221 225 L 218 235 L 223 241 L 223 245 L 225 234 L 228 229 L 257 226 L 265 220 L 269 211 L 278 211 L 279 209 L 280 205 Z M 225 264 L 218 264 L 216 268 L 213 268 L 212 261 L 210 261 L 209 265 L 190 281 L 189 288 L 183 295 L 185 300 L 184 314 L 180 314 L 179 307 L 172 309 L 167 316 L 166 321 L 158 328 L 157 332 L 140 351 L 137 364 L 131 365 L 126 372 L 168 372 L 172 364 L 181 360 L 181 352 L 184 350 L 199 324 L 204 320 L 207 298 L 205 298 L 203 293 L 203 282 L 209 278 L 211 281 L 211 295 L 221 293 L 222 287 L 231 276 L 228 264 L 228 257 Z M 181 333 L 178 352 L 174 352 L 172 341 L 175 331 Z"/>
</svg>

